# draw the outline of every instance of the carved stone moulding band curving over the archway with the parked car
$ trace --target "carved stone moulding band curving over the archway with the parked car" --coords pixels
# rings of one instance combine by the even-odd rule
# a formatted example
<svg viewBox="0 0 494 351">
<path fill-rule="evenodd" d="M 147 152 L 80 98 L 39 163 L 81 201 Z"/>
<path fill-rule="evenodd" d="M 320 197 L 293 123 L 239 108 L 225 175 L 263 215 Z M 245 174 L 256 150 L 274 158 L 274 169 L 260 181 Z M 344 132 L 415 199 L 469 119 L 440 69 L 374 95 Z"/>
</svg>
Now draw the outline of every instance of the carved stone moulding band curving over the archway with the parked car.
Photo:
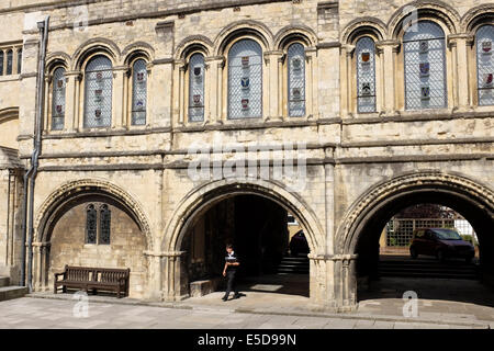
<svg viewBox="0 0 494 351">
<path fill-rule="evenodd" d="M 486 211 L 494 220 L 494 191 L 481 182 L 436 170 L 405 173 L 375 184 L 353 202 L 337 230 L 337 252 L 356 252 L 359 231 L 379 206 L 395 201 L 397 196 L 428 190 L 470 201 L 472 205 L 476 204 L 479 211 Z"/>
</svg>

